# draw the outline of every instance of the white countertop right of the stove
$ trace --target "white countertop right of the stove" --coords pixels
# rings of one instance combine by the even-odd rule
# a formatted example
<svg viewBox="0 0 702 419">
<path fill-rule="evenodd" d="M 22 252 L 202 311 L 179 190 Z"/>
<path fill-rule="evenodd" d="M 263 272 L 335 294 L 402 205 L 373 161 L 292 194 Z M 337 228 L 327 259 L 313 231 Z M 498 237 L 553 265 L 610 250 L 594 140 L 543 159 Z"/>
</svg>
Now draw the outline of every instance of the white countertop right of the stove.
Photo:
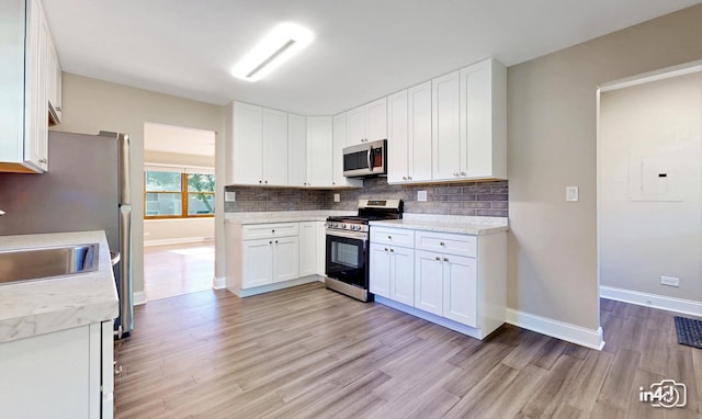
<svg viewBox="0 0 702 419">
<path fill-rule="evenodd" d="M 371 222 L 371 226 L 457 233 L 475 236 L 491 235 L 509 230 L 508 219 L 505 217 L 473 217 L 411 213 L 403 214 L 403 219 Z"/>
</svg>

